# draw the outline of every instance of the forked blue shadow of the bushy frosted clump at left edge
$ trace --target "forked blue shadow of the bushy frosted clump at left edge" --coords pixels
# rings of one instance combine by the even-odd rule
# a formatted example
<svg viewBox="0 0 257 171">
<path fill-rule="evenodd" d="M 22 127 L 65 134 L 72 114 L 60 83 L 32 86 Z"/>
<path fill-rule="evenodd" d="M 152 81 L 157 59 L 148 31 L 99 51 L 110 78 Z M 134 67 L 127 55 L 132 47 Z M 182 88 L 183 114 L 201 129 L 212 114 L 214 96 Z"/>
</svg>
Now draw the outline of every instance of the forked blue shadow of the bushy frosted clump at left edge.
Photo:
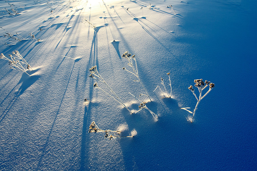
<svg viewBox="0 0 257 171">
<path fill-rule="evenodd" d="M 33 70 L 30 72 L 30 74 L 33 74 L 37 72 L 37 70 Z M 17 99 L 19 98 L 20 95 L 22 95 L 24 93 L 24 91 L 29 88 L 32 84 L 34 84 L 38 79 L 40 78 L 39 75 L 35 75 L 35 76 L 28 76 L 27 74 L 23 73 L 21 80 L 19 81 L 19 84 L 21 84 L 21 86 L 19 87 L 18 91 L 15 93 L 14 98 L 11 100 L 11 102 L 9 103 L 9 105 L 6 107 L 5 111 L 1 114 L 0 118 L 0 123 L 3 121 L 3 119 L 5 118 L 5 116 L 7 115 L 7 113 L 9 113 L 9 111 L 11 110 L 11 108 L 13 107 L 13 105 L 15 104 L 15 102 L 17 101 Z M 16 85 L 16 86 L 17 86 Z M 15 87 L 16 87 L 15 86 Z M 13 87 L 13 89 L 9 92 L 9 94 L 5 97 L 5 99 L 11 94 L 11 92 L 15 89 L 15 87 Z M 5 100 L 4 99 L 4 100 Z M 3 101 L 4 101 L 3 100 Z M 3 101 L 1 102 L 1 104 L 3 103 Z M 1 105 L 0 104 L 0 105 Z"/>
</svg>

